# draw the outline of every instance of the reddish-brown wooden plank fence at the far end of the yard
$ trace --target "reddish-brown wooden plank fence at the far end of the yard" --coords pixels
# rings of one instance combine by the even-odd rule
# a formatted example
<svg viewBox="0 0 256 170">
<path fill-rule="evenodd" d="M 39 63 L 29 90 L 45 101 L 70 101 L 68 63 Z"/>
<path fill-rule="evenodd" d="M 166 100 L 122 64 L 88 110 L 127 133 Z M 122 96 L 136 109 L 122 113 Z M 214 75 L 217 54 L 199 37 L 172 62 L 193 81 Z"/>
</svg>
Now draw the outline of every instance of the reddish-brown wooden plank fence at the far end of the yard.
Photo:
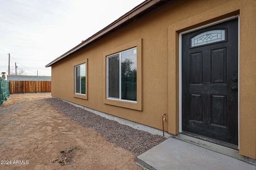
<svg viewBox="0 0 256 170">
<path fill-rule="evenodd" d="M 50 92 L 51 81 L 9 81 L 10 93 Z"/>
</svg>

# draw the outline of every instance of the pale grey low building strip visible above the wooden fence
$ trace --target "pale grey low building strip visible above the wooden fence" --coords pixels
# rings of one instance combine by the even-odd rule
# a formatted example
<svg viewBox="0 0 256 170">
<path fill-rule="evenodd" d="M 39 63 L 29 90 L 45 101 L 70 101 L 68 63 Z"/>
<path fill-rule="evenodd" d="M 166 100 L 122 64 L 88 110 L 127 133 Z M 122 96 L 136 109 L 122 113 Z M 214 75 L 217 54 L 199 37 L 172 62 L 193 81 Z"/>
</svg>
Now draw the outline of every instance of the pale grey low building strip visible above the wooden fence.
<svg viewBox="0 0 256 170">
<path fill-rule="evenodd" d="M 51 76 L 7 75 L 7 81 L 51 81 Z"/>
</svg>

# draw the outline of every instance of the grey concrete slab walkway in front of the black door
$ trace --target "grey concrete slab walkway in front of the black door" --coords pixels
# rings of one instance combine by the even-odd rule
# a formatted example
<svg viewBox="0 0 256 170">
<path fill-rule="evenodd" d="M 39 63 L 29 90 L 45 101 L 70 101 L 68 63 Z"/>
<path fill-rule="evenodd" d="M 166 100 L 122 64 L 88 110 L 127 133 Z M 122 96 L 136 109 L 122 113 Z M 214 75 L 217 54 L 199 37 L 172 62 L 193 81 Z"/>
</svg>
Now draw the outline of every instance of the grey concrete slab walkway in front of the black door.
<svg viewBox="0 0 256 170">
<path fill-rule="evenodd" d="M 256 166 L 217 152 L 170 138 L 137 157 L 149 169 L 255 170 Z"/>
</svg>

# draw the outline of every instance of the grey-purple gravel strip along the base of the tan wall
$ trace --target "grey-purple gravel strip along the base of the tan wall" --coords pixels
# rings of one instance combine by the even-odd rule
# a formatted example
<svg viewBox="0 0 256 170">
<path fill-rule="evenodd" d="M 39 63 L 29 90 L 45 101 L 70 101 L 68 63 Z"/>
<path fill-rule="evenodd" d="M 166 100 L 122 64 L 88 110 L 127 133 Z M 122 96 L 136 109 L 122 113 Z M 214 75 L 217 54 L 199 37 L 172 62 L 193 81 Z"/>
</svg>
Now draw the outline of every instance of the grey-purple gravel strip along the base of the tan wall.
<svg viewBox="0 0 256 170">
<path fill-rule="evenodd" d="M 93 128 L 107 141 L 127 149 L 135 156 L 141 155 L 166 140 L 161 135 L 153 135 L 130 126 L 108 120 L 85 109 L 71 105 L 57 98 L 44 99 L 61 113 L 67 115 L 85 128 Z"/>
</svg>

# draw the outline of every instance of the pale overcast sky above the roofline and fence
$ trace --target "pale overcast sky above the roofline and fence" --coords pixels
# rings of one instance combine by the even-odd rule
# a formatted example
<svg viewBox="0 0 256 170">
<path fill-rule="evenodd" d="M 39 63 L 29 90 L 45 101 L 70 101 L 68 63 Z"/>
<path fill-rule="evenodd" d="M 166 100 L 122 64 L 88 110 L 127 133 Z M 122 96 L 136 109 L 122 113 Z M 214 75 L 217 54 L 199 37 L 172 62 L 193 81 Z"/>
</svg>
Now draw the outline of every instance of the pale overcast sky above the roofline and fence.
<svg viewBox="0 0 256 170">
<path fill-rule="evenodd" d="M 51 75 L 55 58 L 106 27 L 144 0 L 0 0 L 0 72 Z"/>
</svg>

